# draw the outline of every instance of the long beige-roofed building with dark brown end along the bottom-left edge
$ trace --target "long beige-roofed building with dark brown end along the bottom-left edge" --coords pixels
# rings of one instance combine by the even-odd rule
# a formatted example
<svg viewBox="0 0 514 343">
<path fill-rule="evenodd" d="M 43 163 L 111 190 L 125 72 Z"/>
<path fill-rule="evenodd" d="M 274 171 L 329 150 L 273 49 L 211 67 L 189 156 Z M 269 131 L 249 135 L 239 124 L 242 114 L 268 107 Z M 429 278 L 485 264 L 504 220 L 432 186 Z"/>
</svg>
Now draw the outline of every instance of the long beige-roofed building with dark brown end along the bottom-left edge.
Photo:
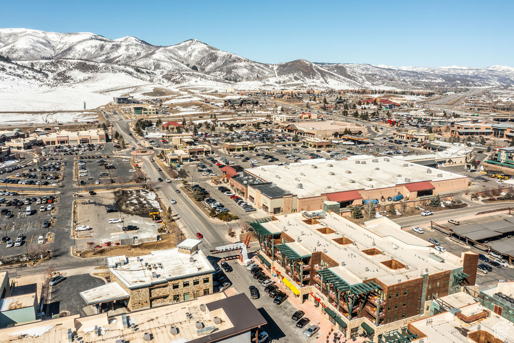
<svg viewBox="0 0 514 343">
<path fill-rule="evenodd" d="M 245 294 L 210 294 L 179 304 L 109 316 L 64 316 L 0 329 L 0 341 L 47 342 L 250 342 L 266 319 Z"/>
</svg>

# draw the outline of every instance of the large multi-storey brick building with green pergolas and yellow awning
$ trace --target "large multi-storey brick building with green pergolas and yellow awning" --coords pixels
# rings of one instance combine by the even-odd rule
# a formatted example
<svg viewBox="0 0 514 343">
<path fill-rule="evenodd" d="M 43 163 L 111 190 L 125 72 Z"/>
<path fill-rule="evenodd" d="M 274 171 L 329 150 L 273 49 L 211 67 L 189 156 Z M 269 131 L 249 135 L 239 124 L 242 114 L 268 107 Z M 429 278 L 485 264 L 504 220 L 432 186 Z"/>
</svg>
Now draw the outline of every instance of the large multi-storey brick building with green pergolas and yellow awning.
<svg viewBox="0 0 514 343">
<path fill-rule="evenodd" d="M 291 297 L 311 301 L 346 339 L 405 328 L 433 296 L 474 285 L 478 255 L 439 252 L 382 217 L 363 226 L 334 212 L 276 215 L 251 223 L 263 263 Z"/>
</svg>

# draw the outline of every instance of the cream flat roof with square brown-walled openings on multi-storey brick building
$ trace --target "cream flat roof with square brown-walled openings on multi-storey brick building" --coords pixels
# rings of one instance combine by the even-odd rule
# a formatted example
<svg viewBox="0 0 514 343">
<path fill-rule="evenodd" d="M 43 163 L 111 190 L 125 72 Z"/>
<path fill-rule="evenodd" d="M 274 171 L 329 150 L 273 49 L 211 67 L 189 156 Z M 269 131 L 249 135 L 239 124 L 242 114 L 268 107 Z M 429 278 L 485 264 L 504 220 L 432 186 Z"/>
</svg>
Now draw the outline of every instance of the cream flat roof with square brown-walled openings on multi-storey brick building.
<svg viewBox="0 0 514 343">
<path fill-rule="evenodd" d="M 284 231 L 296 240 L 295 244 L 310 252 L 325 252 L 339 263 L 331 270 L 350 284 L 377 278 L 392 285 L 419 278 L 421 274 L 463 266 L 461 257 L 440 253 L 432 244 L 403 231 L 388 218 L 360 226 L 339 214 L 325 214 L 317 224 L 307 224 L 306 217 L 299 212 L 276 215 L 277 220 L 262 225 L 269 231 Z M 391 260 L 396 262 L 393 264 Z"/>
</svg>

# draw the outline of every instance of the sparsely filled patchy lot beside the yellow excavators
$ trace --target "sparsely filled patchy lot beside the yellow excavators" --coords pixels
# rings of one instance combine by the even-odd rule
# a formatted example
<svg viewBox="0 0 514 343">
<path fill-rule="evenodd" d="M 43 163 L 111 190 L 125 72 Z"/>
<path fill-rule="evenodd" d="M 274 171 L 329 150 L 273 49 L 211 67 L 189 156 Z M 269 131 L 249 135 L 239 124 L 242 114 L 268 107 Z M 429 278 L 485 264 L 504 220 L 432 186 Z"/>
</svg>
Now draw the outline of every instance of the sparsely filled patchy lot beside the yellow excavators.
<svg viewBox="0 0 514 343">
<path fill-rule="evenodd" d="M 157 229 L 162 224 L 154 222 L 150 216 L 140 216 L 119 212 L 114 208 L 114 194 L 110 191 L 101 191 L 97 195 L 80 197 L 77 204 L 76 227 L 88 226 L 90 229 L 76 231 L 78 245 L 85 246 L 85 242 L 94 242 L 95 245 L 105 246 L 106 242 L 115 245 L 119 242 L 119 235 L 125 233 L 123 227 L 135 225 L 138 229 L 128 230 L 137 239 L 155 239 Z M 107 212 L 109 210 L 109 212 Z M 109 219 L 120 219 L 120 223 L 109 224 Z"/>
</svg>

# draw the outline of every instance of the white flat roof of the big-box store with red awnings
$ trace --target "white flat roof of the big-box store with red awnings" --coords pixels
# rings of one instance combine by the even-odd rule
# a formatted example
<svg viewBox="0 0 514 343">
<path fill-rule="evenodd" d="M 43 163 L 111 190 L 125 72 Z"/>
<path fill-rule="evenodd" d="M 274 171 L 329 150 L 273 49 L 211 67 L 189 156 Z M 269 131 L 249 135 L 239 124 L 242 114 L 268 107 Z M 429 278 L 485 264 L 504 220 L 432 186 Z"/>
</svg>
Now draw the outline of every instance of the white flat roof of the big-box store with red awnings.
<svg viewBox="0 0 514 343">
<path fill-rule="evenodd" d="M 467 177 L 397 158 L 366 155 L 352 156 L 347 160 L 302 160 L 288 166 L 260 166 L 245 171 L 292 194 L 297 194 L 300 198 L 355 189 L 391 187 L 418 181 Z"/>
</svg>

